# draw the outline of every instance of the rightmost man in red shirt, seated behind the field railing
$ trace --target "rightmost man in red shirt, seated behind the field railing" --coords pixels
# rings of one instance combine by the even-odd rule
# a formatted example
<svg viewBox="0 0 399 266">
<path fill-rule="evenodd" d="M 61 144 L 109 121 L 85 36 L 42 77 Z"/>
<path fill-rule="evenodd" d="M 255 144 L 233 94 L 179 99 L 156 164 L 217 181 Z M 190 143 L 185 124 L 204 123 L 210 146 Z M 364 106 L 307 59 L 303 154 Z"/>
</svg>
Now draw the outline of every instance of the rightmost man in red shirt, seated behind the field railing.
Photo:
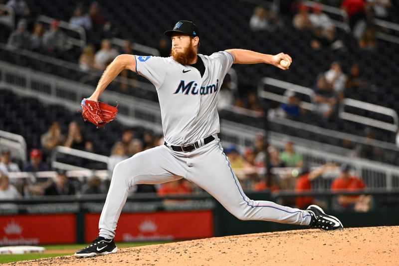
<svg viewBox="0 0 399 266">
<path fill-rule="evenodd" d="M 341 166 L 341 175 L 334 180 L 331 184 L 331 190 L 333 192 L 337 191 L 357 191 L 365 188 L 365 183 L 357 176 L 352 176 L 350 174 L 351 167 L 349 165 Z M 364 197 L 359 196 L 338 196 L 338 203 L 344 209 L 348 209 L 349 207 L 355 208 L 358 203 L 364 200 Z"/>
</svg>

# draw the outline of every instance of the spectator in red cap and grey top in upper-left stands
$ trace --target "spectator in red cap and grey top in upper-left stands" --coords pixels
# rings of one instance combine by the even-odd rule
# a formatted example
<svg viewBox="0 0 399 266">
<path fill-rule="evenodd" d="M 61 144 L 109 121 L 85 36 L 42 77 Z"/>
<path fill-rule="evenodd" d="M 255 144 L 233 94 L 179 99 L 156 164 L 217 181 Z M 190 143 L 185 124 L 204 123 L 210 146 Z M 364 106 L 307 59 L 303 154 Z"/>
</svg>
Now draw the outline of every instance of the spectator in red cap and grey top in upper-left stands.
<svg viewBox="0 0 399 266">
<path fill-rule="evenodd" d="M 66 34 L 59 28 L 59 21 L 54 19 L 51 22 L 50 30 L 46 31 L 43 36 L 46 50 L 50 53 L 66 50 L 66 39 Z"/>
</svg>

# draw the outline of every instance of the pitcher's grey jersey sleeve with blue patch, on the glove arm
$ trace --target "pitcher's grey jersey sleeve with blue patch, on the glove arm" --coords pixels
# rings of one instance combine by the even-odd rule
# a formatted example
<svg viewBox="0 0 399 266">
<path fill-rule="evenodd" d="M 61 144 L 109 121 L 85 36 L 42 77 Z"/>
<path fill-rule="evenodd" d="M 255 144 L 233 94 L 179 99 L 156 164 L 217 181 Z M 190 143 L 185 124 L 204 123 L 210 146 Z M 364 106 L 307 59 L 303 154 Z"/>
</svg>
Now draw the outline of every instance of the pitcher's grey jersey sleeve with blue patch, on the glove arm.
<svg viewBox="0 0 399 266">
<path fill-rule="evenodd" d="M 159 89 L 164 82 L 168 61 L 159 56 L 134 56 L 136 60 L 136 73 L 147 78 Z"/>
</svg>

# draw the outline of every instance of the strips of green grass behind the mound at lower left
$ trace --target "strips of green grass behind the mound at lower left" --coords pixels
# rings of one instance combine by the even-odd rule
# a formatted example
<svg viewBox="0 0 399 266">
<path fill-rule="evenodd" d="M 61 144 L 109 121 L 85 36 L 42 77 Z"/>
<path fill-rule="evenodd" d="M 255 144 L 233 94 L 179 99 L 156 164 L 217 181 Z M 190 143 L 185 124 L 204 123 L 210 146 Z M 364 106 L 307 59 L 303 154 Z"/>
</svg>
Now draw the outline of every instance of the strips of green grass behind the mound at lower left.
<svg viewBox="0 0 399 266">
<path fill-rule="evenodd" d="M 116 243 L 118 249 L 123 248 L 132 248 L 132 247 L 141 247 L 141 246 L 148 246 L 148 245 L 157 245 L 157 244 L 165 244 L 169 242 L 143 242 L 143 243 Z M 72 244 L 72 245 L 44 245 L 40 247 L 44 247 L 46 250 L 80 250 L 86 247 L 87 244 Z M 12 262 L 19 262 L 19 261 L 26 261 L 26 260 L 36 260 L 41 258 L 50 258 L 50 257 L 58 257 L 58 256 L 67 256 L 72 255 L 73 253 L 59 253 L 59 254 L 18 254 L 18 255 L 0 255 L 0 264 L 2 263 L 12 263 Z"/>
</svg>

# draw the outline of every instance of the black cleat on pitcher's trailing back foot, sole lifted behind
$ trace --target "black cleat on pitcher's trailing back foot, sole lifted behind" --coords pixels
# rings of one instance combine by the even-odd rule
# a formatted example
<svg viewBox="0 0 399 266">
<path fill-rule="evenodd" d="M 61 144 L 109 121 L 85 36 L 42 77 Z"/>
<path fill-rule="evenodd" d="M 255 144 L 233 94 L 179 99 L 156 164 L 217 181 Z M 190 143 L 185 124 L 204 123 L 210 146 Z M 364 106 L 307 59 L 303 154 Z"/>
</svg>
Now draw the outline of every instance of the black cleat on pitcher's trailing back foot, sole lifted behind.
<svg viewBox="0 0 399 266">
<path fill-rule="evenodd" d="M 323 209 L 317 205 L 310 205 L 306 211 L 312 216 L 312 221 L 309 225 L 311 228 L 318 228 L 324 231 L 344 229 L 338 218 L 325 214 Z"/>
</svg>

